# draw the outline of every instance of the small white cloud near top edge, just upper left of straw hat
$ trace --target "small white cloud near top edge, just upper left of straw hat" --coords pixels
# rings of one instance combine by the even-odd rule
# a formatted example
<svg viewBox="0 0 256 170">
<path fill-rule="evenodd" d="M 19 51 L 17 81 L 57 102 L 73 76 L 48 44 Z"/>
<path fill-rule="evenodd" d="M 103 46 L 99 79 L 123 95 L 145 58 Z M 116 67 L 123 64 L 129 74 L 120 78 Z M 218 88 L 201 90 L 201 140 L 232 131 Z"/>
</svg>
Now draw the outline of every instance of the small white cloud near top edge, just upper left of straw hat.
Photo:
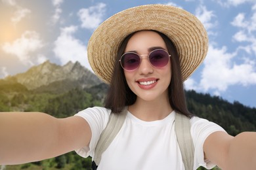
<svg viewBox="0 0 256 170">
<path fill-rule="evenodd" d="M 98 3 L 98 5 L 89 7 L 88 9 L 80 9 L 77 12 L 82 24 L 81 27 L 86 29 L 95 29 L 103 21 L 106 12 L 106 4 Z"/>
</svg>

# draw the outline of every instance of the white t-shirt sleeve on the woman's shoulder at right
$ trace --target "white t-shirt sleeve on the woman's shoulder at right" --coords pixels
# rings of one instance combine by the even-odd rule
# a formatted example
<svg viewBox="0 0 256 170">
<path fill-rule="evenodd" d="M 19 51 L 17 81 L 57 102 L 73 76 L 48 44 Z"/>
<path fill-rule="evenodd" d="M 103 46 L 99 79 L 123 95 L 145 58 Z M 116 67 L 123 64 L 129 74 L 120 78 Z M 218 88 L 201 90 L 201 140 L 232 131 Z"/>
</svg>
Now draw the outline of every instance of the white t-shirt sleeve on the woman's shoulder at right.
<svg viewBox="0 0 256 170">
<path fill-rule="evenodd" d="M 205 120 L 203 118 L 198 118 L 194 116 L 190 120 L 191 123 L 191 135 L 194 142 L 194 169 L 197 166 L 205 167 L 206 169 L 212 169 L 215 167 L 215 164 L 211 163 L 209 160 L 204 159 L 203 154 L 203 143 L 205 142 L 205 139 L 211 133 L 215 131 L 225 131 L 223 127 L 213 123 L 209 122 L 208 120 Z"/>
</svg>

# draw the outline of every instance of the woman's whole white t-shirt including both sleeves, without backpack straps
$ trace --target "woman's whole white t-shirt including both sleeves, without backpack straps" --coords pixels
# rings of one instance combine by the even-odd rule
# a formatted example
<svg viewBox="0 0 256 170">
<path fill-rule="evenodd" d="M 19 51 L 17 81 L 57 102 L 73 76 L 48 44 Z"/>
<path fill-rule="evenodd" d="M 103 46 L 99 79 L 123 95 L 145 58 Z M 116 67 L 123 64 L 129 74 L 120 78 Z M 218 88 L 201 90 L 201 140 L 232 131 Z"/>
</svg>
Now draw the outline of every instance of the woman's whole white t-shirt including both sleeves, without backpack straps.
<svg viewBox="0 0 256 170">
<path fill-rule="evenodd" d="M 89 146 L 75 150 L 84 158 L 94 157 L 95 146 L 100 133 L 106 127 L 111 110 L 93 107 L 75 114 L 87 120 L 92 131 Z M 173 111 L 163 120 L 145 122 L 128 112 L 126 120 L 110 146 L 102 154 L 98 170 L 150 170 L 184 169 L 181 150 L 175 134 L 175 114 Z M 203 143 L 215 131 L 224 129 L 208 120 L 194 116 L 190 119 L 191 135 L 194 142 L 194 169 L 203 166 L 207 169 L 215 165 L 204 160 Z"/>
</svg>

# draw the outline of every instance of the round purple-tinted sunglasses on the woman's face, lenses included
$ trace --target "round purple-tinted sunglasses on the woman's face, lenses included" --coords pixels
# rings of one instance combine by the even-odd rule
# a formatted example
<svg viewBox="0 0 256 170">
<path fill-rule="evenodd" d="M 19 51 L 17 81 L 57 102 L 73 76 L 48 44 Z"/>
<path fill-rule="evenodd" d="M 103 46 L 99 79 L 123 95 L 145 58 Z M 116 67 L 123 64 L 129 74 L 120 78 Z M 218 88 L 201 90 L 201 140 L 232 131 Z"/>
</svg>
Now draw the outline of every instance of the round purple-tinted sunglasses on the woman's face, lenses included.
<svg viewBox="0 0 256 170">
<path fill-rule="evenodd" d="M 126 71 L 133 71 L 137 69 L 141 63 L 141 56 L 148 56 L 148 60 L 153 67 L 163 68 L 165 65 L 169 63 L 169 57 L 171 55 L 168 54 L 167 51 L 163 49 L 156 49 L 150 52 L 148 55 L 140 55 L 135 52 L 126 52 L 121 56 L 119 62 L 121 67 Z"/>
</svg>

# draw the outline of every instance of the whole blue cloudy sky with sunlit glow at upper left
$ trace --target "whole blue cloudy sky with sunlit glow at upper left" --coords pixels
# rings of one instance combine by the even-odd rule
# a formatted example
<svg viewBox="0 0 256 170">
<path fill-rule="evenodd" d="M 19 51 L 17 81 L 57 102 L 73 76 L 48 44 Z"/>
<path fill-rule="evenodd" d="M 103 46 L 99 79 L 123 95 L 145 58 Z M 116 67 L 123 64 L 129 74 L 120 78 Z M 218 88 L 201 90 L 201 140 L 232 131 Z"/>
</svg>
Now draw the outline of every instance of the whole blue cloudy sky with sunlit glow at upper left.
<svg viewBox="0 0 256 170">
<path fill-rule="evenodd" d="M 0 78 L 47 60 L 79 61 L 91 70 L 87 42 L 96 27 L 152 3 L 187 10 L 207 30 L 207 56 L 184 82 L 186 90 L 256 107 L 256 0 L 0 0 Z"/>
</svg>

